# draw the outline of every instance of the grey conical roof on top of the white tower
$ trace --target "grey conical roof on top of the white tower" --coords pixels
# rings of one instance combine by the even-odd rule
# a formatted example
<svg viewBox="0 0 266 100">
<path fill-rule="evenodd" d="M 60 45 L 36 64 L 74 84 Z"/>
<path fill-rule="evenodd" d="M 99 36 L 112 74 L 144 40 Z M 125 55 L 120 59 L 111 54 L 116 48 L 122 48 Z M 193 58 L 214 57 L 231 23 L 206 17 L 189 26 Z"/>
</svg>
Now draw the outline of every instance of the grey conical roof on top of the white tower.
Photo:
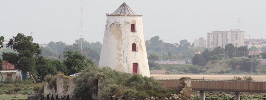
<svg viewBox="0 0 266 100">
<path fill-rule="evenodd" d="M 111 14 L 115 16 L 142 16 L 137 15 L 125 2 Z"/>
</svg>

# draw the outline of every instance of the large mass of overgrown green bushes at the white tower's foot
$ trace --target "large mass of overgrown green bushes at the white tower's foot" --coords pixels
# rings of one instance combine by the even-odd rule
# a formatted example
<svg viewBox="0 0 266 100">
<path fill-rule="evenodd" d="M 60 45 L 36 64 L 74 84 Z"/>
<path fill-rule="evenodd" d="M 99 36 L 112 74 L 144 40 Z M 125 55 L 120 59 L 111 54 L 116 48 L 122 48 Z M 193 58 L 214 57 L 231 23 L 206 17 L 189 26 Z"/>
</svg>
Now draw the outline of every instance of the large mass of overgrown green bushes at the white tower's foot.
<svg viewBox="0 0 266 100">
<path fill-rule="evenodd" d="M 98 87 L 98 79 L 104 79 Z M 101 99 L 110 100 L 112 96 L 124 99 L 144 99 L 148 96 L 170 97 L 178 90 L 169 90 L 161 86 L 161 83 L 153 78 L 139 74 L 121 73 L 111 68 L 88 67 L 74 78 L 74 96 L 82 100 L 94 98 L 97 90 L 100 90 Z"/>
</svg>

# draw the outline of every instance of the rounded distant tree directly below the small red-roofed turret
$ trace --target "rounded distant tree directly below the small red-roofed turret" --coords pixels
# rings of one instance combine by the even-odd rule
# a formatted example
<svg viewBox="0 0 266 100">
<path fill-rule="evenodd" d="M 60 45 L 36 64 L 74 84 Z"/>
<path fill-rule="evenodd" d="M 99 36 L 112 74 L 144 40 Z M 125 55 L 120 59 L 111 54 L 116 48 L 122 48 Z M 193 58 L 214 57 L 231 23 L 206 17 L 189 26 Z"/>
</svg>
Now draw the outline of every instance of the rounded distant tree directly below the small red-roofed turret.
<svg viewBox="0 0 266 100">
<path fill-rule="evenodd" d="M 192 64 L 198 66 L 205 66 L 207 64 L 206 59 L 201 54 L 195 54 L 192 58 Z"/>
</svg>

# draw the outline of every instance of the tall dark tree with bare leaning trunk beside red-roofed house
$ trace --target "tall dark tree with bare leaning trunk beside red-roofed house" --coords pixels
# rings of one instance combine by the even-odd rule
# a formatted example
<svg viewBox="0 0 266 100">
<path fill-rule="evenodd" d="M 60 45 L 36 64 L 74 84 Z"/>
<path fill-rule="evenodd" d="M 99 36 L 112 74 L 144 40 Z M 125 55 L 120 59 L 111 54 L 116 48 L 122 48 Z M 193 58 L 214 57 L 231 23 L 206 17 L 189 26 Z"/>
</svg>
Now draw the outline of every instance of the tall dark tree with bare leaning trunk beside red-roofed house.
<svg viewBox="0 0 266 100">
<path fill-rule="evenodd" d="M 22 33 L 18 33 L 17 36 L 13 36 L 7 44 L 7 47 L 13 48 L 16 53 L 3 53 L 3 60 L 8 61 L 14 65 L 16 69 L 22 72 L 28 72 L 33 82 L 36 84 L 35 79 L 32 76 L 34 67 L 36 65 L 36 58 L 41 54 L 42 50 L 38 43 L 33 43 L 31 36 L 25 36 Z"/>
</svg>

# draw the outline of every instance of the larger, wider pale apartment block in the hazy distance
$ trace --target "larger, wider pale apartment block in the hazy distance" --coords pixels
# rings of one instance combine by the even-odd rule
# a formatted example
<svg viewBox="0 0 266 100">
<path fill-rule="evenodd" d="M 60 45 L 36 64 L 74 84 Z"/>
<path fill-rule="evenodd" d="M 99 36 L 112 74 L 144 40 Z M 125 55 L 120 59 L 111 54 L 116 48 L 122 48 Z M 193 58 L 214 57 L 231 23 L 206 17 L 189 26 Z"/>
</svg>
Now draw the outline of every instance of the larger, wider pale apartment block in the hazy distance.
<svg viewBox="0 0 266 100">
<path fill-rule="evenodd" d="M 235 47 L 244 46 L 245 32 L 240 29 L 231 31 L 212 31 L 208 34 L 208 48 L 225 47 L 227 43 L 232 43 Z"/>
</svg>

